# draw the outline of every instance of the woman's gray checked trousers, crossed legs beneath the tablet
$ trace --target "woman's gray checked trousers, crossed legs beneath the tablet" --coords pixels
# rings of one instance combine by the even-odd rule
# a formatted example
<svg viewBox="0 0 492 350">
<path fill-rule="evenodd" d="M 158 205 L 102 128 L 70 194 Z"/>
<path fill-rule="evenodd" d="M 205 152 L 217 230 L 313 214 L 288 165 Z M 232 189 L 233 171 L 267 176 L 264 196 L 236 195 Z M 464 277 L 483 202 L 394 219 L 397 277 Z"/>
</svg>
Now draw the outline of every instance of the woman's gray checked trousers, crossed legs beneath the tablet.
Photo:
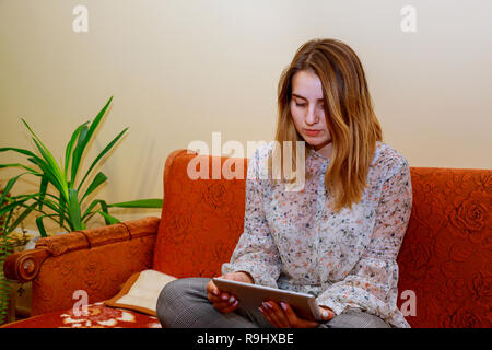
<svg viewBox="0 0 492 350">
<path fill-rule="evenodd" d="M 271 328 L 259 311 L 222 314 L 207 299 L 209 278 L 184 278 L 164 287 L 157 300 L 157 318 L 165 328 Z M 389 328 L 382 318 L 358 308 L 335 316 L 319 328 Z"/>
</svg>

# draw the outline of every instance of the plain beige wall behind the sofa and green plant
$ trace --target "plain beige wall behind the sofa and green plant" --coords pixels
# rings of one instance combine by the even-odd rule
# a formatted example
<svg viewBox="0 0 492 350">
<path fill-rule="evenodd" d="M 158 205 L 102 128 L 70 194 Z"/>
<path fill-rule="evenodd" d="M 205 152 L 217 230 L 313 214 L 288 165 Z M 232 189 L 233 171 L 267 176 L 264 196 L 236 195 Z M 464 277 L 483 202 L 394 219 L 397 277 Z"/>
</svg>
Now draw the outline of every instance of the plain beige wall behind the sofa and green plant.
<svg viewBox="0 0 492 350">
<path fill-rule="evenodd" d="M 78 4 L 87 33 L 72 30 Z M 414 33 L 400 28 L 407 4 Z M 87 160 L 130 130 L 97 197 L 161 197 L 171 151 L 212 131 L 271 140 L 281 70 L 304 42 L 335 37 L 359 54 L 385 141 L 412 166 L 491 168 L 491 13 L 490 0 L 0 0 L 0 147 L 30 147 L 22 116 L 61 158 L 114 95 Z"/>
</svg>

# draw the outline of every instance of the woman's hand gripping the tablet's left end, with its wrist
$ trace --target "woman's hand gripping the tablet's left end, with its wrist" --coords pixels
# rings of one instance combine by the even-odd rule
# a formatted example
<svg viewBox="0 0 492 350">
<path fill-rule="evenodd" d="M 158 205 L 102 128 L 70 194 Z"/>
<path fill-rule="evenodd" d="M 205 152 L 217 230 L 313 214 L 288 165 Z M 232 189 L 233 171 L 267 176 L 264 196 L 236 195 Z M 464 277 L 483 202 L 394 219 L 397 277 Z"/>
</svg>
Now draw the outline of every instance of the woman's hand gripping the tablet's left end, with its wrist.
<svg viewBox="0 0 492 350">
<path fill-rule="evenodd" d="M 253 278 L 246 272 L 225 273 L 223 276 L 220 276 L 219 278 L 238 282 L 253 283 Z M 215 283 L 213 283 L 213 280 L 210 280 L 207 283 L 207 298 L 212 303 L 213 307 L 215 307 L 219 312 L 223 314 L 233 312 L 239 305 L 239 302 L 234 294 L 222 292 L 215 285 Z"/>
</svg>

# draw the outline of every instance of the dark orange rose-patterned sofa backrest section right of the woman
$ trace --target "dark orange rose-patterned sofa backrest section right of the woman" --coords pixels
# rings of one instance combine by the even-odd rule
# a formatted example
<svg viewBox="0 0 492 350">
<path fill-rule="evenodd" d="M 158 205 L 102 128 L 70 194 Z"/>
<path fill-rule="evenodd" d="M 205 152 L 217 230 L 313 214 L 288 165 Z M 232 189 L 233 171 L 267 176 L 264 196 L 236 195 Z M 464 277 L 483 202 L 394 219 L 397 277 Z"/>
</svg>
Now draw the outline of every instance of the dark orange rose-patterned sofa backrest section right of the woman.
<svg viewBox="0 0 492 350">
<path fill-rule="evenodd" d="M 412 212 L 398 255 L 400 310 L 413 293 L 412 327 L 491 327 L 492 171 L 410 171 Z"/>
</svg>

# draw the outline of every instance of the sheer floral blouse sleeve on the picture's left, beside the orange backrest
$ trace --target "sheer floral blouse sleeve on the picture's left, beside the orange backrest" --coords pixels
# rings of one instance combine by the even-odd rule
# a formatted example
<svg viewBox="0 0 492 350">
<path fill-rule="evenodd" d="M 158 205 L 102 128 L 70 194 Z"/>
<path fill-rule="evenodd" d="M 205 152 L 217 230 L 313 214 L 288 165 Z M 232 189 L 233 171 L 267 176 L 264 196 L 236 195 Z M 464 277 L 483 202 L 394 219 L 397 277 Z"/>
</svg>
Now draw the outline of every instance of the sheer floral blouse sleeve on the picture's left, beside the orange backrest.
<svg viewBox="0 0 492 350">
<path fill-rule="evenodd" d="M 259 159 L 256 150 L 248 161 L 244 231 L 231 261 L 222 265 L 222 273 L 246 271 L 256 284 L 277 288 L 280 258 L 266 219 L 263 198 L 268 179 L 259 176 Z"/>
</svg>

